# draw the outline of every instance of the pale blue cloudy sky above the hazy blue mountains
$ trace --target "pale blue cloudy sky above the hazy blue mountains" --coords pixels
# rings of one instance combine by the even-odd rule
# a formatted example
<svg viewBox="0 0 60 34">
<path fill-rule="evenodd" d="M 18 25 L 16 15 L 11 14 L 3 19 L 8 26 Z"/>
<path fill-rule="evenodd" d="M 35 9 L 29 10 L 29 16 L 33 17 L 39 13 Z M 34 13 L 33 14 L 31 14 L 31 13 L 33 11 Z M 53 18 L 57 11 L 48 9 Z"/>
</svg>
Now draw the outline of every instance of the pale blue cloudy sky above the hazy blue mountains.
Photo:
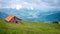
<svg viewBox="0 0 60 34">
<path fill-rule="evenodd" d="M 0 0 L 0 8 L 42 9 L 60 8 L 60 0 Z"/>
</svg>

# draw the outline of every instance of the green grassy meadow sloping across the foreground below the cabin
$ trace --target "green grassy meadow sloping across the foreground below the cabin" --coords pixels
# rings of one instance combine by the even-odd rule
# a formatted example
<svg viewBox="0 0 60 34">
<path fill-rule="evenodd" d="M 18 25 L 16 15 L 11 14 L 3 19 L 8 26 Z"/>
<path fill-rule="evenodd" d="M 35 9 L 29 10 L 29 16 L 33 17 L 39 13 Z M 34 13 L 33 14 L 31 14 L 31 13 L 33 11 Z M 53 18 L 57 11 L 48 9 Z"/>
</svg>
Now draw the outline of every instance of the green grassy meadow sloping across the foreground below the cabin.
<svg viewBox="0 0 60 34">
<path fill-rule="evenodd" d="M 0 34 L 60 34 L 60 24 L 28 21 L 15 24 L 0 18 Z"/>
</svg>

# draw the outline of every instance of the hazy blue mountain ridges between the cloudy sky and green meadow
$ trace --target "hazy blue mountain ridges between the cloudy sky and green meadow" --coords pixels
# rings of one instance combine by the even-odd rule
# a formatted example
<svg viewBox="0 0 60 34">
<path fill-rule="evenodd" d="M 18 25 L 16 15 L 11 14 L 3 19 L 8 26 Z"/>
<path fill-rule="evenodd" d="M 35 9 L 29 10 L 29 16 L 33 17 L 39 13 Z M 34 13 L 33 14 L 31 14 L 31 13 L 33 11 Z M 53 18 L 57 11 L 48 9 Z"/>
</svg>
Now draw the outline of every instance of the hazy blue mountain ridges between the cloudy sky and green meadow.
<svg viewBox="0 0 60 34">
<path fill-rule="evenodd" d="M 0 12 L 8 15 L 12 14 L 23 20 L 29 21 L 60 21 L 60 10 L 59 9 L 45 9 L 45 10 L 28 10 L 28 9 L 0 9 Z M 0 17 L 3 15 L 0 15 Z M 7 15 L 6 15 L 7 16 Z"/>
</svg>

